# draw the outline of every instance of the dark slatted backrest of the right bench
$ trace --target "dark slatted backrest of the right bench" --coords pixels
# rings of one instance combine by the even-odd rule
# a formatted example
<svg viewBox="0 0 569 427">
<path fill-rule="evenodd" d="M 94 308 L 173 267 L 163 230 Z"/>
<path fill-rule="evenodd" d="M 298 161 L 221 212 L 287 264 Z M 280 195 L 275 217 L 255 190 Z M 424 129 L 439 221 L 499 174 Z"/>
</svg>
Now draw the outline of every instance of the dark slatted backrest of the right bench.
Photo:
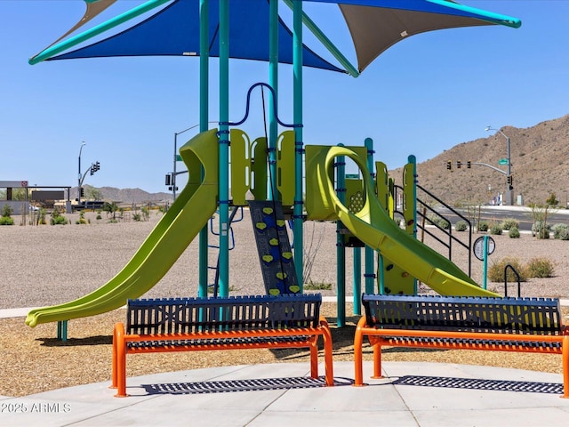
<svg viewBox="0 0 569 427">
<path fill-rule="evenodd" d="M 561 334 L 554 298 L 364 294 L 369 326 L 501 334 Z"/>
</svg>

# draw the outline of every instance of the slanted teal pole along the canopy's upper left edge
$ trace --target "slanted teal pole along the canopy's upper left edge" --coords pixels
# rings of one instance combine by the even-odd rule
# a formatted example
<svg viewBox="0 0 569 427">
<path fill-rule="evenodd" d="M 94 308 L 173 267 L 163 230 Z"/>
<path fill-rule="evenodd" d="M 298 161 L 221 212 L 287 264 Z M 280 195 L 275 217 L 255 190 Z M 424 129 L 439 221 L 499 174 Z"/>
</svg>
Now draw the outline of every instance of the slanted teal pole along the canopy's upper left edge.
<svg viewBox="0 0 569 427">
<path fill-rule="evenodd" d="M 93 27 L 87 31 L 84 31 L 81 34 L 78 34 L 76 36 L 69 38 L 68 40 L 65 40 L 64 42 L 55 44 L 55 45 L 45 49 L 43 52 L 38 53 L 33 58 L 30 58 L 28 60 L 28 63 L 30 65 L 34 65 L 38 62 L 41 62 L 42 60 L 49 60 L 50 58 L 52 58 L 52 56 L 55 56 L 60 52 L 67 51 L 69 48 L 76 46 L 77 44 L 83 43 L 84 41 L 89 40 L 90 38 L 92 38 L 94 36 L 99 36 L 101 33 L 104 33 L 108 29 L 115 28 L 117 25 L 121 25 L 124 22 L 126 22 L 127 20 L 132 20 L 132 18 L 136 18 L 137 16 L 141 15 L 142 13 L 146 13 L 148 11 L 151 11 L 155 7 L 158 7 L 158 6 L 160 6 L 164 3 L 167 3 L 169 1 L 170 0 L 150 0 L 149 2 L 147 2 L 145 4 L 140 4 L 140 6 L 137 6 L 133 9 L 131 9 L 130 11 L 121 13 L 120 15 L 116 16 L 112 20 L 108 20 L 106 22 L 103 22 L 102 24 L 98 25 L 97 27 Z"/>
</svg>

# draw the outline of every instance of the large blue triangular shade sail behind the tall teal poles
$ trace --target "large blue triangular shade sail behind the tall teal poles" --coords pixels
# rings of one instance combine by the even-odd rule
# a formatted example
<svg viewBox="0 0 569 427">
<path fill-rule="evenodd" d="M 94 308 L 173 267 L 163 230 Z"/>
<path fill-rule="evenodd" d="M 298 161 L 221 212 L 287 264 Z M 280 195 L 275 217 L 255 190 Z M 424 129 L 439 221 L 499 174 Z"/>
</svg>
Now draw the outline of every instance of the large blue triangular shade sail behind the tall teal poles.
<svg viewBox="0 0 569 427">
<path fill-rule="evenodd" d="M 219 56 L 219 1 L 210 0 L 210 56 Z M 268 0 L 229 2 L 229 56 L 268 60 Z M 282 20 L 278 27 L 278 60 L 293 63 L 293 35 Z M 199 0 L 175 0 L 160 12 L 115 36 L 51 60 L 112 56 L 199 56 Z M 305 66 L 344 72 L 312 52 L 303 50 Z"/>
</svg>

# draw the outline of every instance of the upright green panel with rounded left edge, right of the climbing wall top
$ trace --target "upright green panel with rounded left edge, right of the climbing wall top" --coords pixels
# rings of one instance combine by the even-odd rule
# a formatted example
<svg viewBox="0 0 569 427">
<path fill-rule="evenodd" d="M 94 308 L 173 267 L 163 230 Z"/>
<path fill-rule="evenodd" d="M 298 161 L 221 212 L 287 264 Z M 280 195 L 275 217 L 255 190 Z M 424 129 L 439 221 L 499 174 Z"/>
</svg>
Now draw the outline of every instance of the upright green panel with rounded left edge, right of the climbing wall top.
<svg viewBox="0 0 569 427">
<path fill-rule="evenodd" d="M 283 206 L 294 205 L 294 131 L 284 131 L 276 141 L 278 153 L 276 156 L 276 189 Z"/>
</svg>

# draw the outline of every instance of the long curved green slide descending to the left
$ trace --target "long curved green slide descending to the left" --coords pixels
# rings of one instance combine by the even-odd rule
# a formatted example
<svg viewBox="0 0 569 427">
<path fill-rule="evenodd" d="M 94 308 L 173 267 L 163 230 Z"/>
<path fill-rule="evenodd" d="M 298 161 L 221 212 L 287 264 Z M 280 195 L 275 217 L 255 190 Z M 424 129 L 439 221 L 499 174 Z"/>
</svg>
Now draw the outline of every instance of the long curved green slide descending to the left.
<svg viewBox="0 0 569 427">
<path fill-rule="evenodd" d="M 115 310 L 145 294 L 164 277 L 217 207 L 217 129 L 199 133 L 180 148 L 188 184 L 132 259 L 114 278 L 75 301 L 31 310 L 26 325 L 84 318 Z M 204 168 L 204 178 L 201 170 Z"/>
</svg>

